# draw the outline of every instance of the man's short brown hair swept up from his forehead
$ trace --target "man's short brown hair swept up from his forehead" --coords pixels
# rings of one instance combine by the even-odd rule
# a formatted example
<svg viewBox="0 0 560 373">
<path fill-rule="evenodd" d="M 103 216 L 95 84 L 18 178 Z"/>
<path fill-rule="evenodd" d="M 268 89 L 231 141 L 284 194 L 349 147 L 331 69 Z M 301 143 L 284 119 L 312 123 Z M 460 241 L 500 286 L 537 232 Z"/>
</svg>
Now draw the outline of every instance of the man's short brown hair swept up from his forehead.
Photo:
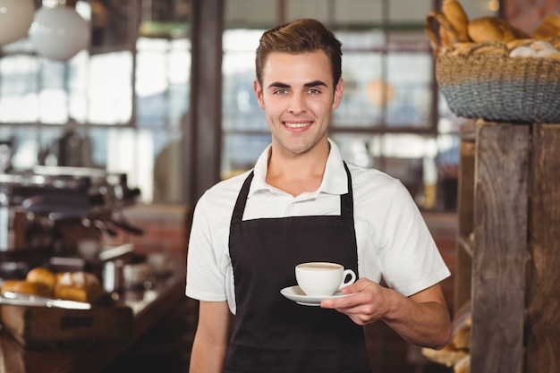
<svg viewBox="0 0 560 373">
<path fill-rule="evenodd" d="M 262 69 L 272 52 L 305 53 L 322 50 L 331 63 L 334 85 L 342 75 L 342 43 L 319 21 L 301 19 L 276 26 L 260 37 L 255 58 L 257 80 L 262 85 Z"/>
</svg>

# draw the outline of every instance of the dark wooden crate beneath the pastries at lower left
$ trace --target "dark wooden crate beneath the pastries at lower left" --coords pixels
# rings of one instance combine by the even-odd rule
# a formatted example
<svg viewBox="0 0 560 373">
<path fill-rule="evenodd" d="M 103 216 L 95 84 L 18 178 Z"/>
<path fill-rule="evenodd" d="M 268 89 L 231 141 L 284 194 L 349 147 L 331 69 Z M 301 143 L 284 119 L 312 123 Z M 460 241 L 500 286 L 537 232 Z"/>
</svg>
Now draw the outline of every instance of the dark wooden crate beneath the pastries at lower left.
<svg viewBox="0 0 560 373">
<path fill-rule="evenodd" d="M 26 347 L 116 342 L 132 337 L 132 309 L 123 305 L 91 309 L 3 305 L 0 312 L 4 329 Z"/>
</svg>

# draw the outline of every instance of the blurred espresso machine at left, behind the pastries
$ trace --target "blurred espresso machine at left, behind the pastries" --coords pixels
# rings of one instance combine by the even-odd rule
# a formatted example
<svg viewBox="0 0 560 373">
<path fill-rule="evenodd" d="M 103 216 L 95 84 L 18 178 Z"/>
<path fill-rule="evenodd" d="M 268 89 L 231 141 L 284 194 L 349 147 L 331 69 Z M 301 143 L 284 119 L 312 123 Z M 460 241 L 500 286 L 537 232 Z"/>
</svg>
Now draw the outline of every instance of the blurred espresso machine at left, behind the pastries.
<svg viewBox="0 0 560 373">
<path fill-rule="evenodd" d="M 80 242 L 118 231 L 141 234 L 122 214 L 139 195 L 126 174 L 97 168 L 36 166 L 0 174 L 0 278 L 52 258 L 80 259 Z"/>
</svg>

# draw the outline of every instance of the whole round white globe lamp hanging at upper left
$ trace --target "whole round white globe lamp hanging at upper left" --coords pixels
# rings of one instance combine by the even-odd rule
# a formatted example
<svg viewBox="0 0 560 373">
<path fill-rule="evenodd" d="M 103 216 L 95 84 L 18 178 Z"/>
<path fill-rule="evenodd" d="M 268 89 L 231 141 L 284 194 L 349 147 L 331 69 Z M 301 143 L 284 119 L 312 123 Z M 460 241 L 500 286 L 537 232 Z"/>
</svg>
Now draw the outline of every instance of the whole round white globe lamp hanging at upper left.
<svg viewBox="0 0 560 373">
<path fill-rule="evenodd" d="M 38 55 L 66 61 L 89 47 L 89 23 L 66 0 L 43 0 L 30 28 Z"/>
</svg>

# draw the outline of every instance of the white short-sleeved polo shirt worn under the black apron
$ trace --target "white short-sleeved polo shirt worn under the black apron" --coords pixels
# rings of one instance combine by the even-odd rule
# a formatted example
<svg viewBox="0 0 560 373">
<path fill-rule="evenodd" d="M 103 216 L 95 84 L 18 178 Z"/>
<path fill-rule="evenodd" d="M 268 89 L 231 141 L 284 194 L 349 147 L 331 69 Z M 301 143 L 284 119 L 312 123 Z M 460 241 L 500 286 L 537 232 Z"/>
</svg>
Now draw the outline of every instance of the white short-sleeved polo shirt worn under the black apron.
<svg viewBox="0 0 560 373">
<path fill-rule="evenodd" d="M 348 190 L 343 158 L 335 142 L 317 191 L 293 197 L 265 182 L 270 146 L 254 168 L 243 220 L 262 217 L 340 215 Z M 450 276 L 420 210 L 403 184 L 378 170 L 347 164 L 352 175 L 358 272 L 410 296 Z M 235 313 L 229 230 L 235 200 L 250 171 L 218 182 L 194 210 L 187 259 L 186 295 L 228 301 Z M 295 284 L 295 279 L 294 279 Z M 279 292 L 280 289 L 277 289 Z"/>
</svg>

